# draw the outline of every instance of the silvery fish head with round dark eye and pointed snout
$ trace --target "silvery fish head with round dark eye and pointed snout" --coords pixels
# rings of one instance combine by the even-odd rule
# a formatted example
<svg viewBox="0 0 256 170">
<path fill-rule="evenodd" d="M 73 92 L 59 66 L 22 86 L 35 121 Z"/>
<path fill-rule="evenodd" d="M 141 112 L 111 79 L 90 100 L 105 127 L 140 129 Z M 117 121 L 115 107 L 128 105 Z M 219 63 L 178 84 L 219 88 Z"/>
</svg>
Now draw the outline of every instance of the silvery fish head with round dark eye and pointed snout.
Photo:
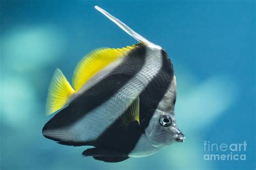
<svg viewBox="0 0 256 170">
<path fill-rule="evenodd" d="M 166 113 L 157 109 L 149 126 L 145 129 L 145 134 L 154 147 L 163 147 L 173 142 L 183 142 L 185 139 L 184 134 L 176 125 L 174 111 Z"/>
</svg>

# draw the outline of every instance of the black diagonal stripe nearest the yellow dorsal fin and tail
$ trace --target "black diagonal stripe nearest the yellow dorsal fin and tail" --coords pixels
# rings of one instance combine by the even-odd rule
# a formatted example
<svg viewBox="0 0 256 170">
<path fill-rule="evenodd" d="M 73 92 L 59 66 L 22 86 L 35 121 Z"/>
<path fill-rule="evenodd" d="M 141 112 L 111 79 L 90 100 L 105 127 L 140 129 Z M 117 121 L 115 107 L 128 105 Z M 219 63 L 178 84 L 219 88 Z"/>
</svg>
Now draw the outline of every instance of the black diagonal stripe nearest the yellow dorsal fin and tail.
<svg viewBox="0 0 256 170">
<path fill-rule="evenodd" d="M 145 45 L 138 44 L 138 47 L 129 52 L 125 60 L 114 69 L 110 75 L 98 82 L 95 86 L 86 90 L 82 95 L 79 95 L 68 107 L 51 118 L 43 128 L 44 136 L 52 140 L 60 141 L 62 144 L 76 145 L 76 141 L 65 141 L 62 139 L 64 137 L 60 134 L 58 134 L 57 137 L 53 135 L 48 136 L 47 131 L 68 127 L 81 119 L 87 112 L 90 112 L 100 104 L 109 100 L 111 96 L 116 94 L 120 88 L 143 68 L 146 60 L 146 48 Z"/>
</svg>

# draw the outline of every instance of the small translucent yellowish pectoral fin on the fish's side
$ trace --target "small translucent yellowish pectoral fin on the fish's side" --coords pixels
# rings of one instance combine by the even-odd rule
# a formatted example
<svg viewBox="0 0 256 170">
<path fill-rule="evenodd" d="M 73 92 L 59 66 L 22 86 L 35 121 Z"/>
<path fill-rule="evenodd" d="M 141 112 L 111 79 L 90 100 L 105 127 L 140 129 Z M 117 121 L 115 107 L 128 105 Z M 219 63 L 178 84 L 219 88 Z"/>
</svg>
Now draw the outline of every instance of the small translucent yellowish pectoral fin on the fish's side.
<svg viewBox="0 0 256 170">
<path fill-rule="evenodd" d="M 130 107 L 121 117 L 120 125 L 127 128 L 134 121 L 139 123 L 139 96 L 132 102 Z"/>
</svg>

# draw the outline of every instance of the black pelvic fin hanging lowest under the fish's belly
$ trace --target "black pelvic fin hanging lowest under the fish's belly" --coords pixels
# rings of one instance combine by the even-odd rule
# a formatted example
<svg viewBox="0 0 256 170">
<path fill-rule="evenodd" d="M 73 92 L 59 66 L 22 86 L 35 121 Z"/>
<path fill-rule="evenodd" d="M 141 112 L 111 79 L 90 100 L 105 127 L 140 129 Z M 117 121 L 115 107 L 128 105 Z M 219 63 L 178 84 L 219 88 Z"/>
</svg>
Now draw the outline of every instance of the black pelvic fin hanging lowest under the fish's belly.
<svg viewBox="0 0 256 170">
<path fill-rule="evenodd" d="M 120 162 L 129 159 L 126 154 L 97 147 L 85 150 L 82 155 L 84 155 L 84 157 L 93 157 L 96 160 L 104 162 Z"/>
</svg>

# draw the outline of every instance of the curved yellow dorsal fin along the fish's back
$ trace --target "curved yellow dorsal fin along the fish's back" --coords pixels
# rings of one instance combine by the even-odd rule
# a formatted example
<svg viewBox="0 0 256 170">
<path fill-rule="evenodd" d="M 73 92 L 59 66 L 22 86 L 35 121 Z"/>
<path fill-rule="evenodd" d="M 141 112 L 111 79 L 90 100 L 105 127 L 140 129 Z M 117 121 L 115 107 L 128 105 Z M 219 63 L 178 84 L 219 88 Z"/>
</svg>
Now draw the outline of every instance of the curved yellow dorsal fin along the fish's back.
<svg viewBox="0 0 256 170">
<path fill-rule="evenodd" d="M 109 65 L 111 62 L 124 56 L 131 51 L 136 45 L 125 48 L 100 48 L 84 56 L 78 63 L 73 73 L 73 87 L 77 91 L 91 79 L 96 73 Z"/>
</svg>

